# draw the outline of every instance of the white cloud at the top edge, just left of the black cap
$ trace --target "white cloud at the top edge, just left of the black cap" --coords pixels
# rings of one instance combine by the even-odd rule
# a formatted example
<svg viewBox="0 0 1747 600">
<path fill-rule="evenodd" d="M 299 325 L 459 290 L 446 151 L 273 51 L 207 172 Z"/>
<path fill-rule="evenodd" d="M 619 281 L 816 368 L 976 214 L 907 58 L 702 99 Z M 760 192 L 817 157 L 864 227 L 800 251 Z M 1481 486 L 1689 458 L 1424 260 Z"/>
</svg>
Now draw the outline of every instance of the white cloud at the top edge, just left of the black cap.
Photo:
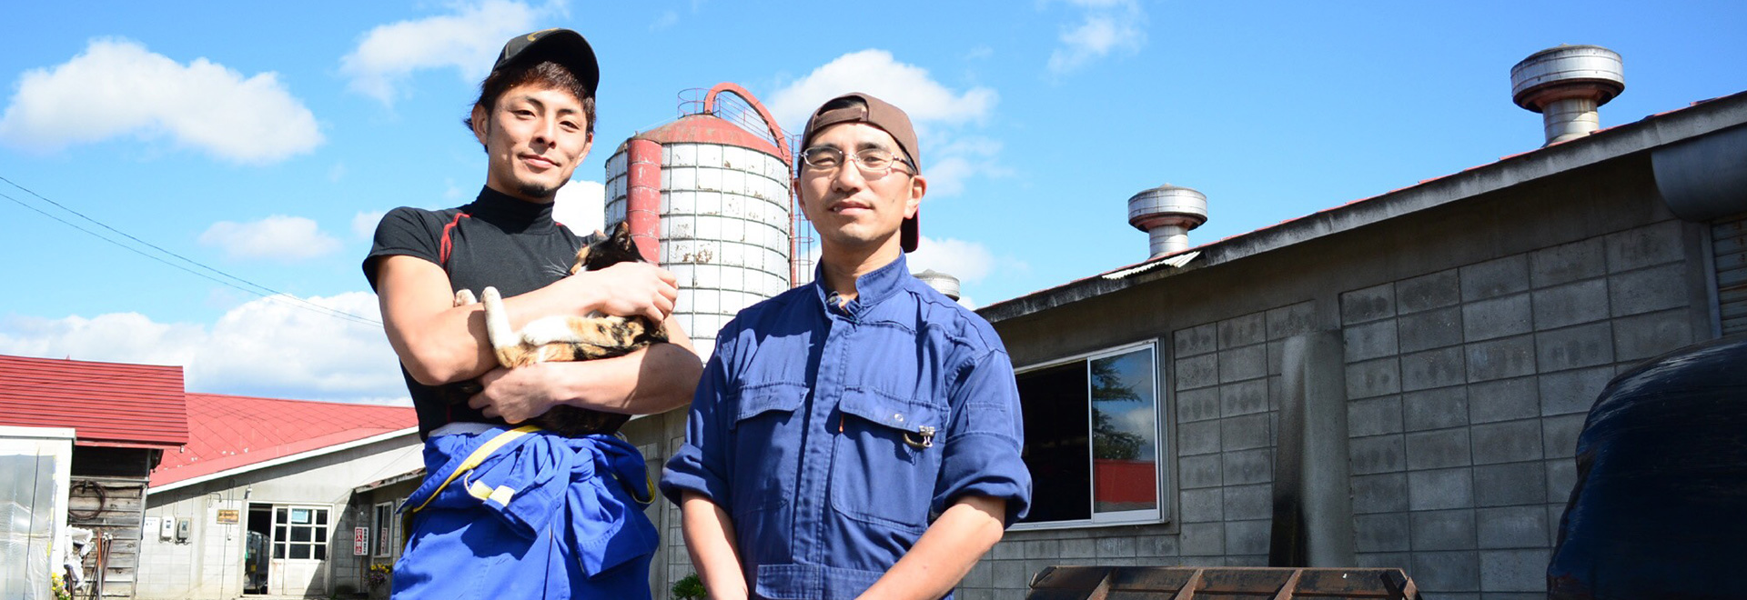
<svg viewBox="0 0 1747 600">
<path fill-rule="evenodd" d="M 341 73 L 356 92 L 393 105 L 400 84 L 418 70 L 456 68 L 479 82 L 503 51 L 503 40 L 528 33 L 543 17 L 563 14 L 564 3 L 531 7 L 522 2 L 482 0 L 454 7 L 454 14 L 379 24 L 341 58 Z"/>
</svg>

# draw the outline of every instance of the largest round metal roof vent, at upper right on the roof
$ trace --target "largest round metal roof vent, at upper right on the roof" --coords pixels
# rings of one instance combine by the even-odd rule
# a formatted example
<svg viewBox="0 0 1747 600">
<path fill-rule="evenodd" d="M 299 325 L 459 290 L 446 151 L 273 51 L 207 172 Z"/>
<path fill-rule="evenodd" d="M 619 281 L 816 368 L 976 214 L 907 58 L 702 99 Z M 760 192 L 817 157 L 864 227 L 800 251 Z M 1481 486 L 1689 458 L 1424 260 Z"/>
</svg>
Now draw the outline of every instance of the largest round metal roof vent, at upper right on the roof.
<svg viewBox="0 0 1747 600">
<path fill-rule="evenodd" d="M 1541 113 L 1548 145 L 1600 129 L 1597 108 L 1625 89 L 1625 63 L 1600 45 L 1557 45 L 1511 66 L 1511 101 Z"/>
</svg>

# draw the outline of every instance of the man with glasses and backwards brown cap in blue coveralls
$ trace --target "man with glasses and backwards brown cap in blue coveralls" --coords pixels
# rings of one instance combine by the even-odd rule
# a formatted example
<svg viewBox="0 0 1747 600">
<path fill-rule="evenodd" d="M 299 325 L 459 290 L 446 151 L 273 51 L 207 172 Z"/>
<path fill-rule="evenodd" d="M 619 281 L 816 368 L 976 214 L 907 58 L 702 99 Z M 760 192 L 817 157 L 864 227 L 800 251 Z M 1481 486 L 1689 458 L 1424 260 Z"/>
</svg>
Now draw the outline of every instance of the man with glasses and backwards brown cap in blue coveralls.
<svg viewBox="0 0 1747 600">
<path fill-rule="evenodd" d="M 812 284 L 722 328 L 660 488 L 711 598 L 940 598 L 1031 502 L 994 328 L 910 276 L 915 131 L 868 94 L 807 120 Z"/>
</svg>

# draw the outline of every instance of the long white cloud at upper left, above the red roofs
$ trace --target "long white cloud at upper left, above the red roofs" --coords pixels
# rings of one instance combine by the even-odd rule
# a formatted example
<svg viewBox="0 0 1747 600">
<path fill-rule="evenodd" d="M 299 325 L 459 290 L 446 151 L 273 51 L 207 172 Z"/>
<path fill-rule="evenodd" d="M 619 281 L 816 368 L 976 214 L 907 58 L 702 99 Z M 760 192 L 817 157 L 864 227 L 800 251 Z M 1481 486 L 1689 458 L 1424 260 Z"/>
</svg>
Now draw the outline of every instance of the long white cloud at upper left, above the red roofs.
<svg viewBox="0 0 1747 600">
<path fill-rule="evenodd" d="M 93 40 L 59 66 L 26 72 L 0 115 L 0 140 L 21 148 L 126 134 L 168 138 L 243 164 L 283 160 L 321 143 L 314 113 L 278 73 L 243 77 L 204 58 L 182 65 L 121 38 Z"/>
</svg>

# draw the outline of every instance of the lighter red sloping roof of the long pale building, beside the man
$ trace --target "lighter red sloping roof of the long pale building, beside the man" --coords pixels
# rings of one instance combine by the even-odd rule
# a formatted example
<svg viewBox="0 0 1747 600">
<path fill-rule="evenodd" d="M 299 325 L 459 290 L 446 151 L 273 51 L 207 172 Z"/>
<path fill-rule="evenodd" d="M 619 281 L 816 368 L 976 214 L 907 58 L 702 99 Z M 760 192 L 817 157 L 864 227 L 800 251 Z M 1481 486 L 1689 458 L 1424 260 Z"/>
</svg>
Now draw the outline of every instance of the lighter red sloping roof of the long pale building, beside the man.
<svg viewBox="0 0 1747 600">
<path fill-rule="evenodd" d="M 411 406 L 187 394 L 192 436 L 164 452 L 150 487 L 358 441 L 418 426 Z"/>
</svg>

